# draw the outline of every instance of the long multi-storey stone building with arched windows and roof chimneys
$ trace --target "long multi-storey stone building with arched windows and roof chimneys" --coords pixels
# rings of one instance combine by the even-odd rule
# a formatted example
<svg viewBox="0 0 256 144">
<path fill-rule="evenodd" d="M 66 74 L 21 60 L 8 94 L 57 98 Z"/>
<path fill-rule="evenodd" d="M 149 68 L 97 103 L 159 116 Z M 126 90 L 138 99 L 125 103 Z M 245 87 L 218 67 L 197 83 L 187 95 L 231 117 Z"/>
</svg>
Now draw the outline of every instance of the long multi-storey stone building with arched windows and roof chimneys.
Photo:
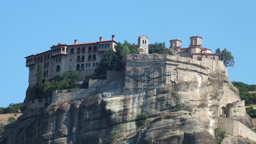
<svg viewBox="0 0 256 144">
<path fill-rule="evenodd" d="M 43 79 L 49 80 L 55 76 L 60 76 L 64 71 L 74 69 L 79 74 L 79 80 L 93 74 L 97 62 L 102 58 L 103 52 L 108 49 L 115 51 L 115 35 L 112 40 L 102 40 L 92 43 L 53 45 L 50 50 L 35 55 L 26 56 L 26 67 L 29 67 L 29 85 L 37 82 L 38 66 L 43 66 Z"/>
</svg>

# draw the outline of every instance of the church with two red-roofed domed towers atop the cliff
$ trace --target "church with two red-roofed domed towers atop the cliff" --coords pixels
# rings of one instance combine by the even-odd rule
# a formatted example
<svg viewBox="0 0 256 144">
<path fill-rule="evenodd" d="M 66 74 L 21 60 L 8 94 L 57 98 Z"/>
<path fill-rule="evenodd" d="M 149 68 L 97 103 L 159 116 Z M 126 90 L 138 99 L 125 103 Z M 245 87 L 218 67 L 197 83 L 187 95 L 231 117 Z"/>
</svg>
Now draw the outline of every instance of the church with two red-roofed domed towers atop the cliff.
<svg viewBox="0 0 256 144">
<path fill-rule="evenodd" d="M 187 48 L 181 48 L 181 40 L 170 40 L 170 49 L 174 55 L 190 57 L 192 59 L 201 60 L 202 58 L 219 59 L 218 54 L 212 53 L 211 49 L 202 47 L 202 37 L 190 37 L 190 45 Z"/>
</svg>

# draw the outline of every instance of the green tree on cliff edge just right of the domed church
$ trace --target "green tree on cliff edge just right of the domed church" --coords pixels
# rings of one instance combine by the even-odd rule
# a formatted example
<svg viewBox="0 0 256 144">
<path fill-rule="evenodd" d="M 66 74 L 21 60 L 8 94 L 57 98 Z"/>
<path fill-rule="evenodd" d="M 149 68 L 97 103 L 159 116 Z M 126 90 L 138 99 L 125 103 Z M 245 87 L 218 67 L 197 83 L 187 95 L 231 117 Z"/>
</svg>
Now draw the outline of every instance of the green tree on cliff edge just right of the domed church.
<svg viewBox="0 0 256 144">
<path fill-rule="evenodd" d="M 215 53 L 219 54 L 219 60 L 224 62 L 225 67 L 234 67 L 234 57 L 226 48 L 224 50 L 218 48 Z"/>
</svg>

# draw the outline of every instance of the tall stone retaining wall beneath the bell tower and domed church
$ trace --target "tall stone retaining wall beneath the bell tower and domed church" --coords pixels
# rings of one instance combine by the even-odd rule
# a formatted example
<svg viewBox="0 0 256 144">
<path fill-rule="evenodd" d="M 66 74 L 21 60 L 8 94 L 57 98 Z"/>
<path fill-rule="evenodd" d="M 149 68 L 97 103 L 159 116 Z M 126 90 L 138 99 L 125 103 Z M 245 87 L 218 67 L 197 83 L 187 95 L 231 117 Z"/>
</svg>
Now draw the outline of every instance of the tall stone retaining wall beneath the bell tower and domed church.
<svg viewBox="0 0 256 144">
<path fill-rule="evenodd" d="M 217 70 L 218 65 L 220 61 L 208 58 L 197 60 L 156 53 L 128 55 L 125 89 L 157 88 L 192 73 L 207 76 Z"/>
</svg>

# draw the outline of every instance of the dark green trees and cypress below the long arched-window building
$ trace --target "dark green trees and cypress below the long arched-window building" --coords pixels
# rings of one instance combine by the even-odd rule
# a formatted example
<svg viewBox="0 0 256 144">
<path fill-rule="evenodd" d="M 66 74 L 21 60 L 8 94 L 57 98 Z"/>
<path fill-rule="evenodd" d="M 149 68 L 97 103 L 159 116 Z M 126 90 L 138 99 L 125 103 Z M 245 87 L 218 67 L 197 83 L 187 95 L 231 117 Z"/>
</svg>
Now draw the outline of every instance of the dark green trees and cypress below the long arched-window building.
<svg viewBox="0 0 256 144">
<path fill-rule="evenodd" d="M 74 89 L 80 87 L 79 83 L 76 81 L 78 79 L 78 73 L 76 73 L 75 70 L 66 71 L 62 73 L 61 76 L 43 82 L 43 77 L 41 77 L 43 71 L 40 67 L 41 66 L 38 68 L 37 84 L 35 85 L 35 94 L 37 94 L 38 97 L 50 97 L 53 90 Z"/>
</svg>

